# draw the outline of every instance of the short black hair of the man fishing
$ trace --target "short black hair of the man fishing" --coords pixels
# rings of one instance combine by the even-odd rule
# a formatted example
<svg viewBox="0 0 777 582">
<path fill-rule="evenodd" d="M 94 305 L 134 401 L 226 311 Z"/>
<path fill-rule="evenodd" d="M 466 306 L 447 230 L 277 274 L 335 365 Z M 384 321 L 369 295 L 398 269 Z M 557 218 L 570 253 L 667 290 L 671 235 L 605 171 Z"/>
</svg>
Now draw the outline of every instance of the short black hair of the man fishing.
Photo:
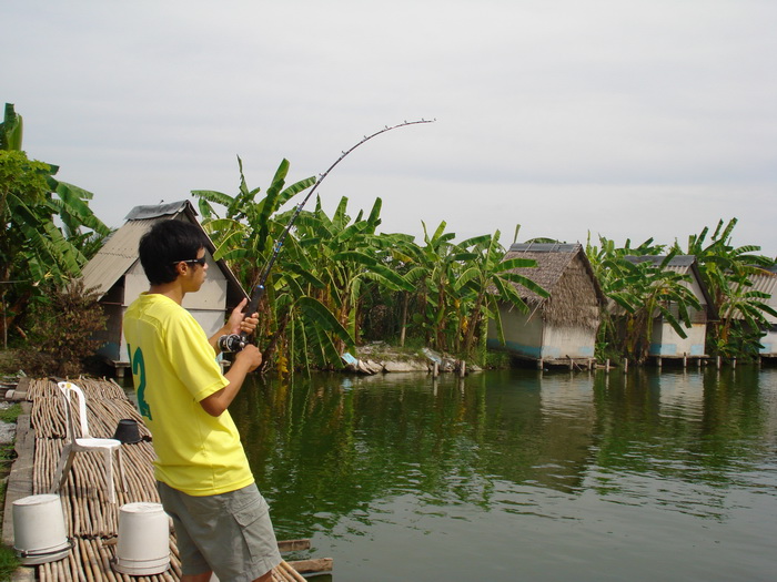
<svg viewBox="0 0 777 582">
<path fill-rule="evenodd" d="M 140 239 L 140 264 L 151 285 L 172 283 L 178 277 L 180 261 L 196 258 L 208 247 L 208 237 L 195 224 L 185 221 L 162 221 Z"/>
</svg>

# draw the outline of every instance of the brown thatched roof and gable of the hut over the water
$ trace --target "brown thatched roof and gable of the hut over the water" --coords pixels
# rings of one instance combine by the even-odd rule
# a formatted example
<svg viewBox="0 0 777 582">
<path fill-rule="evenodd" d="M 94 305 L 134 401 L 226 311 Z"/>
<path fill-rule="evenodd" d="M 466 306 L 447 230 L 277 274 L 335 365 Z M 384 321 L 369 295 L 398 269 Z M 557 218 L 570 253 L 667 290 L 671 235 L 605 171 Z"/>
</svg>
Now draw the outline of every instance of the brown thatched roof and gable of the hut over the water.
<svg viewBox="0 0 777 582">
<path fill-rule="evenodd" d="M 529 258 L 537 263 L 536 267 L 513 272 L 533 280 L 551 296 L 541 297 L 519 284 L 515 284 L 515 288 L 529 307 L 542 310 L 546 321 L 569 327 L 598 327 L 599 310 L 606 297 L 582 245 L 515 244 L 504 258 Z"/>
</svg>

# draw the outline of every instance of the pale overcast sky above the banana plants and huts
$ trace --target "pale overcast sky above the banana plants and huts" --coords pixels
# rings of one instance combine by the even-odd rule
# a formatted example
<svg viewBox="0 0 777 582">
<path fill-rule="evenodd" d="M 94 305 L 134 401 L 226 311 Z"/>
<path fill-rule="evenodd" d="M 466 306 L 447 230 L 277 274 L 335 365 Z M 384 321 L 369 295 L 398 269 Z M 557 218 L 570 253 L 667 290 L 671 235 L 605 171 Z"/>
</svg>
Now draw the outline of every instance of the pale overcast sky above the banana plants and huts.
<svg viewBox="0 0 777 582">
<path fill-rule="evenodd" d="M 383 232 L 623 244 L 739 218 L 777 254 L 774 0 L 3 2 L 23 146 L 123 224 L 282 159 Z M 312 206 L 312 204 L 311 204 Z"/>
</svg>

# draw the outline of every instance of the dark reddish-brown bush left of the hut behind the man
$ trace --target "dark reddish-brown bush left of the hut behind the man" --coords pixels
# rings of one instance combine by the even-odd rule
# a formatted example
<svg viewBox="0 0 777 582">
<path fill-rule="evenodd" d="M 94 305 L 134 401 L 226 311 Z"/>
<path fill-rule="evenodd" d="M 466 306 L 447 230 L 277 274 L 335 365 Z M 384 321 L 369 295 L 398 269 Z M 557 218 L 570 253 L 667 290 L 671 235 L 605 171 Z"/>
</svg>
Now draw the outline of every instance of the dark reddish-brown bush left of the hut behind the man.
<svg viewBox="0 0 777 582">
<path fill-rule="evenodd" d="M 72 377 L 82 371 L 84 359 L 100 346 L 94 334 L 105 329 L 98 299 L 79 280 L 36 304 L 29 346 L 19 356 L 28 375 Z"/>
</svg>

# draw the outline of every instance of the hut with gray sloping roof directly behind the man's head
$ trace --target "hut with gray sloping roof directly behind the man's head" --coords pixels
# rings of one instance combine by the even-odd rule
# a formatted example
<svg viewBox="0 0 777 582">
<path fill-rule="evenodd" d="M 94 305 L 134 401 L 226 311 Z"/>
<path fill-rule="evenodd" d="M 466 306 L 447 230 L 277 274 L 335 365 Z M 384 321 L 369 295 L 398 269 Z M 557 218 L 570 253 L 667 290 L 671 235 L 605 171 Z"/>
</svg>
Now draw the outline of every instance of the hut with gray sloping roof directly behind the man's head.
<svg viewBox="0 0 777 582">
<path fill-rule="evenodd" d="M 100 293 L 100 304 L 108 316 L 108 329 L 98 337 L 103 340 L 98 354 L 113 365 L 120 375 L 129 366 L 127 343 L 122 333 L 124 312 L 149 288 L 149 280 L 138 256 L 141 236 L 160 221 L 188 221 L 200 226 L 196 211 L 189 201 L 158 206 L 135 206 L 124 219 L 125 224 L 110 236 L 83 268 L 82 277 L 87 288 L 93 287 Z M 210 336 L 224 325 L 225 313 L 233 309 L 246 295 L 226 263 L 213 261 L 212 253 L 215 246 L 210 238 L 208 241 L 208 278 L 198 293 L 184 297 L 183 307 L 192 313 Z"/>
</svg>

